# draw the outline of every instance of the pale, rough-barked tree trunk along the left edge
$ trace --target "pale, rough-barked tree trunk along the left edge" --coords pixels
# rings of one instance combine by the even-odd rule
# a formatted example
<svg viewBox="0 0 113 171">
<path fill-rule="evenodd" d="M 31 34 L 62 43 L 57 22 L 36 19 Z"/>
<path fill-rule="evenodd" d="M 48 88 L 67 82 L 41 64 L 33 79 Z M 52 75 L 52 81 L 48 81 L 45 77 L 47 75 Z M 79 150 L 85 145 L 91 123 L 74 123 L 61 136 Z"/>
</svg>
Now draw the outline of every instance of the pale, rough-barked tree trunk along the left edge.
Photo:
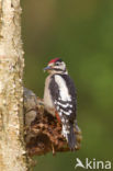
<svg viewBox="0 0 113 171">
<path fill-rule="evenodd" d="M 0 171 L 26 171 L 20 0 L 0 0 Z"/>
</svg>

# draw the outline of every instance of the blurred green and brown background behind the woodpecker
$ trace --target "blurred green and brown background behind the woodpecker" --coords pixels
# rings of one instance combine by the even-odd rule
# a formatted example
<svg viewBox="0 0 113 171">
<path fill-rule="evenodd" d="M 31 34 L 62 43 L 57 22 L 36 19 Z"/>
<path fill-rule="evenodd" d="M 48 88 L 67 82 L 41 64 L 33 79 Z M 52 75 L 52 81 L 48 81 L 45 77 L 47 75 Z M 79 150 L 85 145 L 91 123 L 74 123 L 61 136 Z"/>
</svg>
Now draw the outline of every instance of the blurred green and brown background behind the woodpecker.
<svg viewBox="0 0 113 171">
<path fill-rule="evenodd" d="M 77 157 L 113 161 L 113 1 L 22 0 L 22 8 L 24 84 L 43 98 L 43 68 L 64 59 L 78 90 L 83 136 L 77 152 L 36 157 L 34 171 L 75 171 Z"/>
</svg>

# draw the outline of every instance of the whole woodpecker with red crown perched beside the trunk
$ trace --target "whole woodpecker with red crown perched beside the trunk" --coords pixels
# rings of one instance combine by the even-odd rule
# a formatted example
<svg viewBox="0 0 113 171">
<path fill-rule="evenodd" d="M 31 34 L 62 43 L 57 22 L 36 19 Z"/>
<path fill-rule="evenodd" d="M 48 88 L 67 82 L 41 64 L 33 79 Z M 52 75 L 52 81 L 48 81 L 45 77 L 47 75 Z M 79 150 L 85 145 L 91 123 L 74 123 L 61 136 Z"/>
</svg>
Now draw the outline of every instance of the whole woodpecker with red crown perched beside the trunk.
<svg viewBox="0 0 113 171">
<path fill-rule="evenodd" d="M 49 73 L 45 80 L 45 109 L 61 123 L 61 134 L 66 138 L 70 150 L 75 150 L 77 141 L 75 134 L 75 125 L 77 124 L 75 83 L 68 75 L 66 64 L 60 58 L 52 59 L 44 70 Z"/>
</svg>

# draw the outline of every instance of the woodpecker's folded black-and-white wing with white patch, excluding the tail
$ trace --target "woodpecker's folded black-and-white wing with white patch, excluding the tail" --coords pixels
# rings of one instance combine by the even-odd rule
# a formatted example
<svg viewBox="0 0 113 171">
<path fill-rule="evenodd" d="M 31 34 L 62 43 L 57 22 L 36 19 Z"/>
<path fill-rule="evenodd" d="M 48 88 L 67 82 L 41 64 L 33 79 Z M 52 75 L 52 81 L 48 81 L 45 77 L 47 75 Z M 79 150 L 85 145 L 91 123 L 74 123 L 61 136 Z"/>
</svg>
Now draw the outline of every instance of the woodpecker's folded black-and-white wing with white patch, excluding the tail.
<svg viewBox="0 0 113 171">
<path fill-rule="evenodd" d="M 76 117 L 76 89 L 68 75 L 54 75 L 49 84 L 50 94 L 60 118 Z"/>
</svg>

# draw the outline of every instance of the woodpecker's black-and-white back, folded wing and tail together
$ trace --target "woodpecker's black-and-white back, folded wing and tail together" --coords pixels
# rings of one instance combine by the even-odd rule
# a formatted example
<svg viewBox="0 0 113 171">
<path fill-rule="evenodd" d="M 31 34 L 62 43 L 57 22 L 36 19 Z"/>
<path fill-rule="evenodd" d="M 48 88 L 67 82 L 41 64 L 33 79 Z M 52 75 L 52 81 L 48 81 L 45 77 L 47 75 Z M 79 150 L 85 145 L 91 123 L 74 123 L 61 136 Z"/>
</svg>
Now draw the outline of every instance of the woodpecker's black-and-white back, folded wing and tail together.
<svg viewBox="0 0 113 171">
<path fill-rule="evenodd" d="M 76 119 L 77 98 L 74 81 L 68 75 L 53 75 L 49 91 L 56 111 L 63 123 L 63 135 L 69 142 L 72 149 L 76 137 L 74 134 L 74 122 Z"/>
</svg>

